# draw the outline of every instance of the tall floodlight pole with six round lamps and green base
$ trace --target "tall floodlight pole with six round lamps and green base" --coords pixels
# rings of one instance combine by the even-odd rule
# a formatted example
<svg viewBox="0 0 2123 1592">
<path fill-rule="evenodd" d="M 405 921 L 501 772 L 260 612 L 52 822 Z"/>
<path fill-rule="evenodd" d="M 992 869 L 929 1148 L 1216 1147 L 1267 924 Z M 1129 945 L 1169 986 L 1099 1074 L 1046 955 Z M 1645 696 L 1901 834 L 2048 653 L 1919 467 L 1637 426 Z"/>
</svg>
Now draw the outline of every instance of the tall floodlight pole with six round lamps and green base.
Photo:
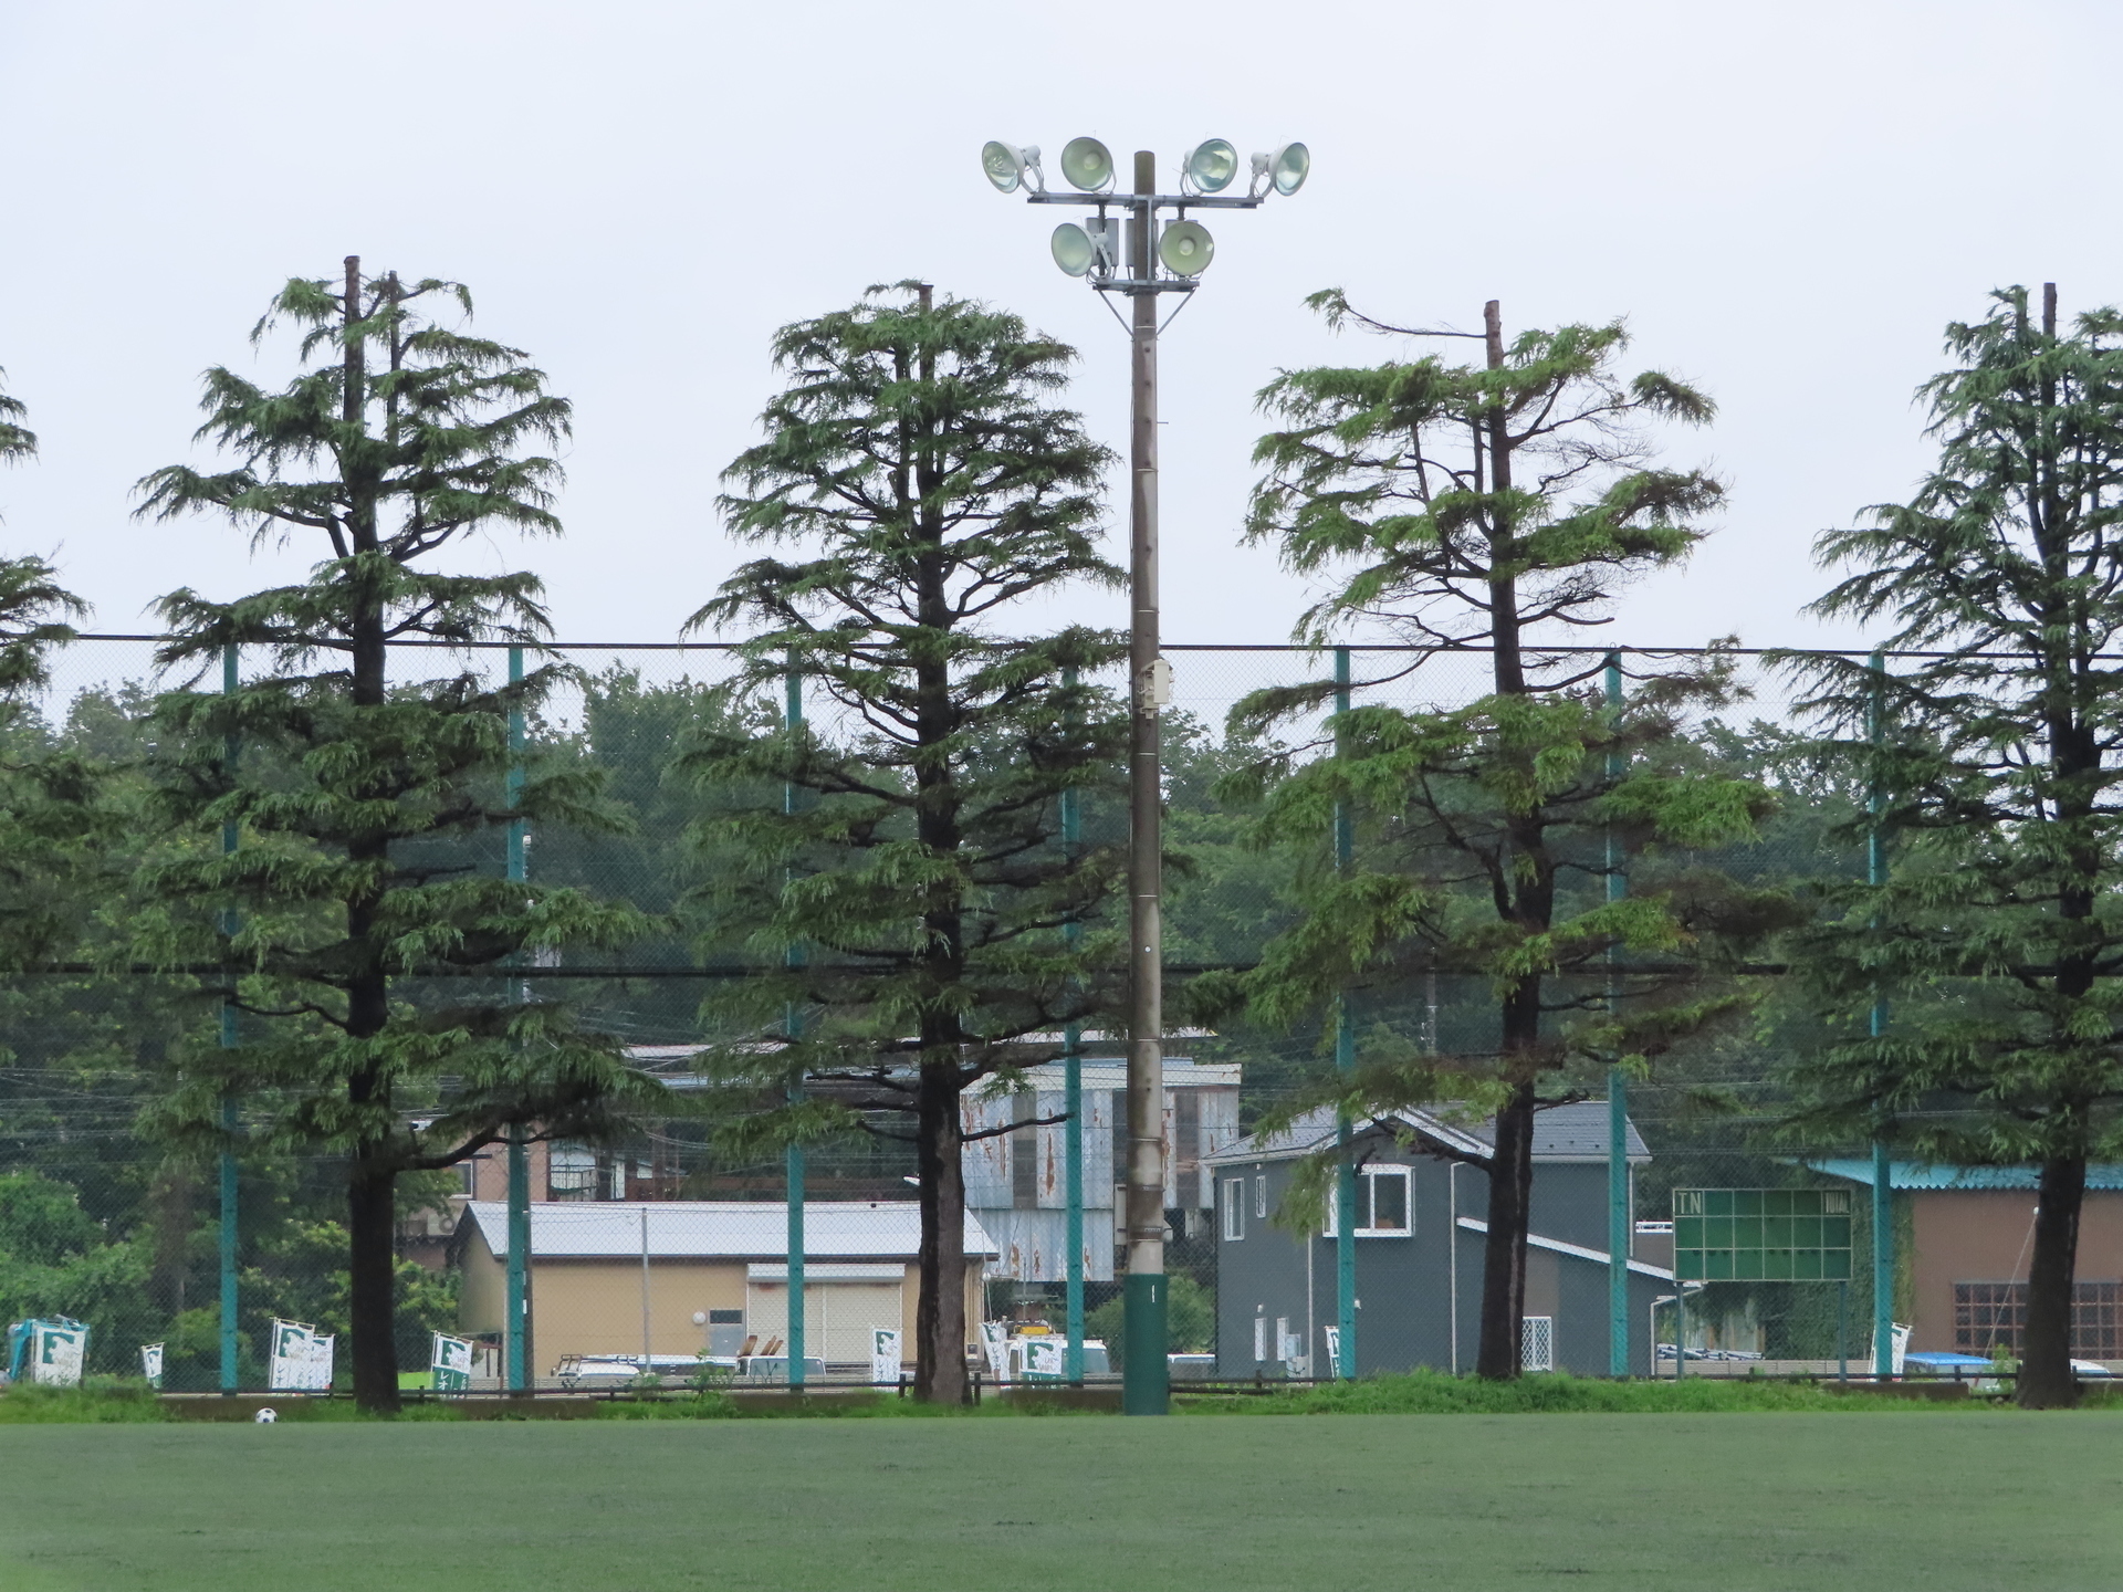
<svg viewBox="0 0 2123 1592">
<path fill-rule="evenodd" d="M 1074 193 L 1049 193 L 1040 151 L 989 142 L 981 170 L 1002 193 L 1025 189 L 1030 204 L 1081 204 L 1095 210 L 1085 221 L 1064 221 L 1053 233 L 1053 257 L 1070 276 L 1100 293 L 1129 301 L 1129 427 L 1127 427 L 1127 1278 L 1123 1282 L 1125 1346 L 1121 1407 L 1132 1416 L 1161 1416 L 1170 1405 L 1166 1361 L 1166 989 L 1163 989 L 1163 841 L 1161 756 L 1157 709 L 1170 696 L 1170 671 L 1157 656 L 1157 333 L 1159 299 L 1178 293 L 1178 308 L 1199 287 L 1216 242 L 1189 210 L 1253 210 L 1270 193 L 1297 193 L 1312 170 L 1304 144 L 1284 144 L 1253 157 L 1246 193 L 1223 193 L 1238 176 L 1238 149 L 1208 138 L 1180 159 L 1176 193 L 1157 191 L 1157 157 L 1136 153 L 1134 193 L 1112 193 L 1112 153 L 1095 138 L 1072 138 L 1062 149 L 1062 176 Z M 1110 214 L 1119 210 L 1121 214 Z M 1170 210 L 1172 221 L 1159 223 Z M 1125 219 L 1125 236 L 1121 221 Z"/>
</svg>

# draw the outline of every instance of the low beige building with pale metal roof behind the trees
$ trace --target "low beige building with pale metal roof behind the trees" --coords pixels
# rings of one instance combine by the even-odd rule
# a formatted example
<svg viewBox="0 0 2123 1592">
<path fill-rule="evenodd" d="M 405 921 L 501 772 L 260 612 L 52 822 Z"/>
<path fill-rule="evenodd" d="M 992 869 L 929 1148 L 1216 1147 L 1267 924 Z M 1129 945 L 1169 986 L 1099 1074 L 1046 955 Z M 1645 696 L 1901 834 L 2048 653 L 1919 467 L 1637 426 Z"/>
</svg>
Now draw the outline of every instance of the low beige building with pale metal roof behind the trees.
<svg viewBox="0 0 2123 1592">
<path fill-rule="evenodd" d="M 870 1329 L 915 1346 L 921 1216 L 913 1201 L 805 1206 L 805 1352 L 870 1365 Z M 507 1288 L 507 1206 L 471 1199 L 456 1225 L 459 1327 L 499 1337 Z M 983 1318 L 981 1271 L 996 1244 L 966 1218 L 966 1333 Z M 788 1337 L 788 1206 L 667 1199 L 531 1206 L 531 1363 L 573 1354 L 735 1354 Z"/>
</svg>

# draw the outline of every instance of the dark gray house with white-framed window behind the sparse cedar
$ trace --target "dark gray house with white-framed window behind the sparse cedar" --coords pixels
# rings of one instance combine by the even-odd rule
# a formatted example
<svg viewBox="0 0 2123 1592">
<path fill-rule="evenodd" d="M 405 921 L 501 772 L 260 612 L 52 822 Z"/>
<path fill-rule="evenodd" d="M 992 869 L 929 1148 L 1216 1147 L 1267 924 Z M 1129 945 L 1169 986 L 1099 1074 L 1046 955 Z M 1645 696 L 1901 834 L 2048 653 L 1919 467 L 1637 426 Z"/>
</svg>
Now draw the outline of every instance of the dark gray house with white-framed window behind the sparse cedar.
<svg viewBox="0 0 2123 1592">
<path fill-rule="evenodd" d="M 1312 1375 L 1314 1365 L 1321 1375 L 1327 1371 L 1340 1212 L 1329 1212 L 1325 1233 L 1293 1233 L 1272 1218 L 1297 1161 L 1331 1142 L 1333 1117 L 1316 1112 L 1289 1134 L 1246 1138 L 1204 1159 L 1216 1178 L 1219 1375 Z M 1418 1365 L 1473 1369 L 1490 1125 L 1403 1110 L 1361 1123 L 1357 1148 L 1357 1373 Z M 1650 1159 L 1630 1125 L 1630 1167 Z M 1673 1293 L 1673 1271 L 1630 1259 L 1628 1274 L 1630 1373 L 1650 1375 L 1652 1301 Z M 1535 1117 L 1520 1342 L 1526 1369 L 1607 1373 L 1603 1100 Z"/>
</svg>

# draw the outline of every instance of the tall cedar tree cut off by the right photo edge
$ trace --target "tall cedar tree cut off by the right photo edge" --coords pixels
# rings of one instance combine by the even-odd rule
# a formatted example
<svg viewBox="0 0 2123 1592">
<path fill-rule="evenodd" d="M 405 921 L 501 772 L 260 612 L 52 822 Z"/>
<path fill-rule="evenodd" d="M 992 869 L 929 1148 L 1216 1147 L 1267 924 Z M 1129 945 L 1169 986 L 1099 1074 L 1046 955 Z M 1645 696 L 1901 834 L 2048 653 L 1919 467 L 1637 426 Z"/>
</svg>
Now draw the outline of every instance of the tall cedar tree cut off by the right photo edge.
<svg viewBox="0 0 2123 1592">
<path fill-rule="evenodd" d="M 1856 567 L 1815 611 L 1887 620 L 1875 673 L 1813 660 L 1892 858 L 1847 885 L 1807 966 L 1864 1034 L 1800 1068 L 1813 1121 L 1940 1161 L 2036 1163 L 2019 1401 L 2070 1403 L 2087 1161 L 2123 1155 L 2123 316 L 2057 331 L 2055 289 L 1947 327 L 1919 388 L 1938 465 L 1822 535 Z M 1881 745 L 1868 720 L 1879 717 Z"/>
</svg>

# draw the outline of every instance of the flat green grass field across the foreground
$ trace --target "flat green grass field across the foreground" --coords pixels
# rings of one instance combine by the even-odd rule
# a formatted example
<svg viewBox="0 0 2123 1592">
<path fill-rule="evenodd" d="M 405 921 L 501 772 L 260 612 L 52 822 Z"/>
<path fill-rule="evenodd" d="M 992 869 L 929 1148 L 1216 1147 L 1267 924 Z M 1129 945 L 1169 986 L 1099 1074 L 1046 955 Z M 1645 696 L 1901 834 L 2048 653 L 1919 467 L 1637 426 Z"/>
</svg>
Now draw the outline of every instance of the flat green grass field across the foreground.
<svg viewBox="0 0 2123 1592">
<path fill-rule="evenodd" d="M 2119 1439 L 1932 1412 L 23 1424 L 0 1588 L 2064 1592 L 2123 1584 Z"/>
</svg>

